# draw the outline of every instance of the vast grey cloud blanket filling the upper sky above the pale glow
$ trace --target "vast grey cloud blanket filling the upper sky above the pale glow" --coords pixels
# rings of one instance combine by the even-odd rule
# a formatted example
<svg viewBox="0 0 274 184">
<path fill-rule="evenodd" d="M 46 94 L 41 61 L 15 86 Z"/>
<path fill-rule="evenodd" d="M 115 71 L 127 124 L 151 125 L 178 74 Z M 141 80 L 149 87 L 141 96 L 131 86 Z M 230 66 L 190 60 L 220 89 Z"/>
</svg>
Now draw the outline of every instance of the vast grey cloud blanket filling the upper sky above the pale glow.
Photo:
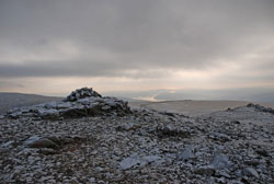
<svg viewBox="0 0 274 184">
<path fill-rule="evenodd" d="M 66 39 L 77 43 L 84 55 L 96 47 L 117 56 L 100 60 L 80 55 L 61 61 L 24 60 L 23 65 L 0 56 L 2 78 L 151 78 L 161 76 L 146 74 L 153 69 L 205 69 L 255 51 L 274 37 L 274 1 L 2 0 L 0 30 L 0 53 L 2 44 L 26 53 L 54 51 L 48 43 Z M 139 71 L 130 74 L 129 70 Z"/>
</svg>

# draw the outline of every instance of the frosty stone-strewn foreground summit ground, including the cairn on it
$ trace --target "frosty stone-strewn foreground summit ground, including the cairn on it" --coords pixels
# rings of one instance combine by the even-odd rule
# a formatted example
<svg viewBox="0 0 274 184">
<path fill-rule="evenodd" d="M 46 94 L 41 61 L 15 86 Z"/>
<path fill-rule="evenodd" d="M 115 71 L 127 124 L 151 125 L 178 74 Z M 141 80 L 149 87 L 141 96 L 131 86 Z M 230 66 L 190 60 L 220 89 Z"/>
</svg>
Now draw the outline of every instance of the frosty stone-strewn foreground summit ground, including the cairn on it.
<svg viewBox="0 0 274 184">
<path fill-rule="evenodd" d="M 272 108 L 187 117 L 93 92 L 2 116 L 0 182 L 274 183 Z"/>
</svg>

